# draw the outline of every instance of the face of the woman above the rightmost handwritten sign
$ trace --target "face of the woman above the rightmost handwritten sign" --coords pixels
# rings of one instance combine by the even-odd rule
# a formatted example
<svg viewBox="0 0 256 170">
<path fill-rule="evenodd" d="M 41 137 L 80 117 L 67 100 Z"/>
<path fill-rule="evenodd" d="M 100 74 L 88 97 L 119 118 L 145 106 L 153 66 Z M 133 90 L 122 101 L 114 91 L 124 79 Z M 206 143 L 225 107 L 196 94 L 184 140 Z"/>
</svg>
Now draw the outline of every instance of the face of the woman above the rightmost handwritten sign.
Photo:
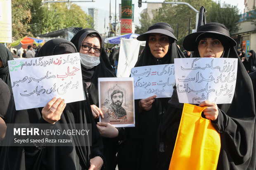
<svg viewBox="0 0 256 170">
<path fill-rule="evenodd" d="M 221 42 L 215 38 L 203 38 L 199 41 L 198 51 L 200 57 L 220 58 L 224 47 Z"/>
</svg>

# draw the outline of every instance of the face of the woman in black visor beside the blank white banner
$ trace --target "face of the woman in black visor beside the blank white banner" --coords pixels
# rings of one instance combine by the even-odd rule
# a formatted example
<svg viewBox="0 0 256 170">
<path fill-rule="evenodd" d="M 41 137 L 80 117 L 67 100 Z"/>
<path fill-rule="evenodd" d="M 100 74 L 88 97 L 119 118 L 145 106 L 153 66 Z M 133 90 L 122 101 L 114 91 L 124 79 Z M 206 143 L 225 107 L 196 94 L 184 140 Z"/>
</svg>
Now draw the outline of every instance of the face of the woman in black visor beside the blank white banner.
<svg viewBox="0 0 256 170">
<path fill-rule="evenodd" d="M 164 34 L 152 33 L 149 35 L 149 48 L 152 55 L 157 58 L 163 58 L 169 48 L 169 37 Z"/>
</svg>

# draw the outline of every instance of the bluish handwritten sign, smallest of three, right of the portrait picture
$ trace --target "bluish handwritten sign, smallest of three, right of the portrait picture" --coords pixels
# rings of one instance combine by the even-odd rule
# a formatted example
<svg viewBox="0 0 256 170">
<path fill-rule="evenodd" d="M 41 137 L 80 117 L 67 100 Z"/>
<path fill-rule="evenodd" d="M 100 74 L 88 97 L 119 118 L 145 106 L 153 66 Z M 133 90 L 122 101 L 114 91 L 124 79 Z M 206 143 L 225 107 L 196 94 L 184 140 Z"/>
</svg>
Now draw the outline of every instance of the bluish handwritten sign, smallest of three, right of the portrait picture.
<svg viewBox="0 0 256 170">
<path fill-rule="evenodd" d="M 131 77 L 134 78 L 135 99 L 152 95 L 157 95 L 157 98 L 169 98 L 173 94 L 174 64 L 135 67 L 131 70 Z"/>
</svg>

